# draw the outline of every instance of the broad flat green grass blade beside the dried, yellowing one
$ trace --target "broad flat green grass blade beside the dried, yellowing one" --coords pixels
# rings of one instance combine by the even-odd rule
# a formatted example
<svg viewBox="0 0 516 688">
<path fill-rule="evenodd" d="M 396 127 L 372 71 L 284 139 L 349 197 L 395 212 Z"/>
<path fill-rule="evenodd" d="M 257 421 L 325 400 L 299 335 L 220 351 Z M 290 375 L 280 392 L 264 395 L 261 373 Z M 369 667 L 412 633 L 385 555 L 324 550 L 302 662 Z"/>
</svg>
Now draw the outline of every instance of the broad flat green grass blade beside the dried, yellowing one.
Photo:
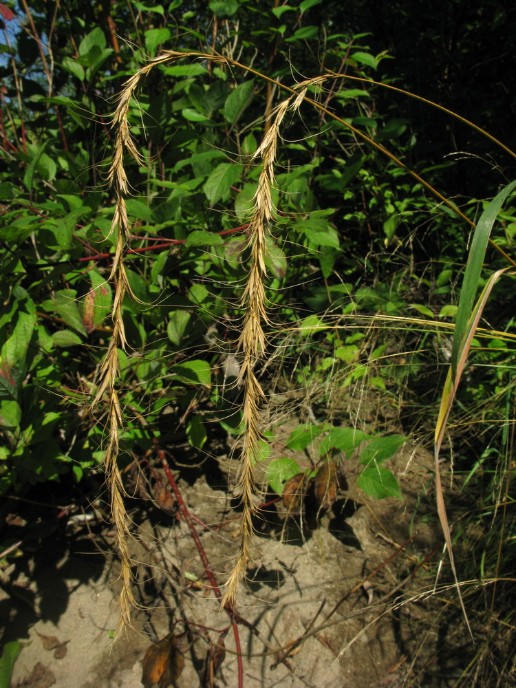
<svg viewBox="0 0 516 688">
<path fill-rule="evenodd" d="M 480 272 L 482 271 L 482 264 L 486 255 L 486 248 L 489 241 L 489 235 L 495 224 L 495 219 L 499 213 L 502 203 L 506 197 L 515 189 L 516 180 L 510 182 L 500 191 L 500 193 L 493 198 L 491 203 L 482 213 L 482 217 L 478 221 L 477 228 L 471 241 L 471 248 L 469 250 L 468 262 L 466 264 L 466 272 L 464 272 L 464 281 L 462 282 L 462 291 L 460 292 L 459 309 L 457 312 L 457 319 L 455 321 L 455 334 L 453 336 L 453 345 L 451 347 L 451 368 L 453 376 L 457 374 L 457 365 L 460 357 L 464 337 L 466 335 L 467 323 L 471 317 L 471 309 L 477 294 L 478 281 L 480 279 Z"/>
</svg>

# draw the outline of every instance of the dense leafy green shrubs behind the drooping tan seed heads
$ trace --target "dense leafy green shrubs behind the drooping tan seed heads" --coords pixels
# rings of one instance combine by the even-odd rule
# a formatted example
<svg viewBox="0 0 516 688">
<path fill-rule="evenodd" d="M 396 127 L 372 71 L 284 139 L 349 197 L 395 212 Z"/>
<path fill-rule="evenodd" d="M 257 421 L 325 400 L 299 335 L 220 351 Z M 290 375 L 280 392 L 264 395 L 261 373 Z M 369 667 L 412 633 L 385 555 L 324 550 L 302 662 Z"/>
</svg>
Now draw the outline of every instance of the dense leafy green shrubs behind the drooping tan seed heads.
<svg viewBox="0 0 516 688">
<path fill-rule="evenodd" d="M 21 0 L 0 14 L 0 493 L 99 473 L 109 428 L 120 469 L 156 442 L 186 440 L 194 456 L 246 430 L 235 343 L 249 305 L 259 146 L 294 89 L 263 247 L 266 340 L 253 359 L 262 406 L 301 390 L 286 447 L 326 433 L 328 460 L 367 440 L 361 488 L 399 496 L 382 464 L 405 436 L 431 444 L 472 225 L 514 178 L 515 159 L 466 122 L 372 81 L 435 101 L 510 149 L 515 10 Z M 125 113 L 135 146 L 127 176 L 111 184 L 118 95 L 166 50 L 198 56 L 171 56 L 142 76 Z M 305 92 L 319 107 L 298 103 L 319 75 Z M 509 196 L 481 287 L 514 266 L 515 215 Z M 487 531 L 502 519 L 508 545 L 499 555 L 492 535 L 481 538 L 482 572 L 459 577 L 502 578 L 514 561 L 509 284 L 505 275 L 492 285 L 450 419 L 466 523 Z M 362 419 L 338 398 L 364 390 L 394 413 L 350 434 Z M 391 434 L 393 415 L 405 436 Z M 266 462 L 274 439 L 262 429 L 251 459 Z M 281 493 L 305 469 L 284 457 L 266 470 Z"/>
</svg>

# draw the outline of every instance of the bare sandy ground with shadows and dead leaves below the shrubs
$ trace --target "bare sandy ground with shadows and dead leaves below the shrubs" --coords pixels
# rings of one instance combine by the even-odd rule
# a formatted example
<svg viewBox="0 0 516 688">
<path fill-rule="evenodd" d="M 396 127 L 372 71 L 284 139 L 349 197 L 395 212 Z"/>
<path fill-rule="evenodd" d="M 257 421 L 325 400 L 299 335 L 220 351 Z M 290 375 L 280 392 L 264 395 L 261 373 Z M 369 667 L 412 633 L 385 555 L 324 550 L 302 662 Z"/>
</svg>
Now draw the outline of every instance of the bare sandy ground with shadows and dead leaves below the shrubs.
<svg viewBox="0 0 516 688">
<path fill-rule="evenodd" d="M 406 451 L 397 458 L 397 469 L 407 465 L 408 457 Z M 407 621 L 403 615 L 381 616 L 385 607 L 377 603 L 409 566 L 408 550 L 391 561 L 389 557 L 409 537 L 412 505 L 427 480 L 426 455 L 412 460 L 400 476 L 402 502 L 366 500 L 350 480 L 332 509 L 319 518 L 312 515 L 302 528 L 299 519 L 286 524 L 277 505 L 267 508 L 264 520 L 257 522 L 255 562 L 239 599 L 246 621 L 238 624 L 244 686 L 401 685 L 409 612 Z M 230 520 L 230 500 L 216 482 L 202 475 L 190 483 L 180 479 L 179 486 L 222 583 L 237 550 L 237 526 Z M 106 524 L 97 524 L 92 532 L 80 522 L 69 523 L 41 539 L 32 557 L 23 557 L 23 563 L 14 565 L 18 568 L 4 574 L 11 587 L 3 586 L 0 596 L 1 616 L 8 620 L 3 642 L 23 643 L 13 687 L 140 688 L 145 649 L 171 630 L 184 657 L 174 685 L 239 685 L 235 636 L 210 590 L 188 526 L 154 507 L 133 517 L 139 524 L 131 545 L 136 598 L 149 610 L 136 610 L 134 630 L 115 643 L 118 565 L 100 552 L 112 544 Z M 422 527 L 411 541 L 410 556 L 426 554 L 436 537 L 435 523 Z M 224 630 L 226 656 L 211 683 L 209 664 L 206 674 L 209 644 Z M 308 638 L 286 652 L 289 643 L 307 633 Z M 42 635 L 55 636 L 65 643 L 65 651 L 63 645 L 58 652 L 56 647 L 45 649 L 52 642 Z"/>
</svg>

